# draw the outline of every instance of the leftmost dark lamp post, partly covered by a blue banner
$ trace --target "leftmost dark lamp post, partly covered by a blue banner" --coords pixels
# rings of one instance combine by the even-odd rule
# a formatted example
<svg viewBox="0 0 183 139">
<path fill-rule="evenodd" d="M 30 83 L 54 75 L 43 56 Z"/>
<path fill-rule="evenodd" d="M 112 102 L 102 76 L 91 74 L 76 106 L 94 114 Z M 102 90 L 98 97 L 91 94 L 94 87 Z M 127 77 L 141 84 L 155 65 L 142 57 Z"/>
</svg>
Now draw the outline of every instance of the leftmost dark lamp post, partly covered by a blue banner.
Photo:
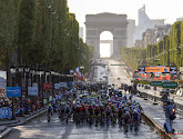
<svg viewBox="0 0 183 139">
<path fill-rule="evenodd" d="M 10 72 L 12 75 L 12 87 L 14 87 L 14 75 L 16 75 L 16 66 L 12 63 L 10 67 Z M 14 97 L 12 97 L 12 120 L 16 120 L 16 112 L 14 112 Z"/>
</svg>

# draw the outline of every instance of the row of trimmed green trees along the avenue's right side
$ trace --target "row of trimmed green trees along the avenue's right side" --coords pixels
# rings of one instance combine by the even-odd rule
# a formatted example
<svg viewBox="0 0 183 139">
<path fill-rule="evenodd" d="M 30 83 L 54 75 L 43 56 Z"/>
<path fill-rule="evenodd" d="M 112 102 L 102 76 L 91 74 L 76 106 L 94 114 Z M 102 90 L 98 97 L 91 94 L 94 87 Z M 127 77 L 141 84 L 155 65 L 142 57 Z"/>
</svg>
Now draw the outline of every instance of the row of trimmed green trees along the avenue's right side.
<svg viewBox="0 0 183 139">
<path fill-rule="evenodd" d="M 121 51 L 122 57 L 126 59 L 126 62 L 133 68 L 138 64 L 134 49 L 135 48 L 123 48 Z M 183 21 L 175 22 L 172 26 L 170 36 L 164 36 L 156 44 L 148 44 L 143 51 L 146 53 L 146 58 L 144 56 L 141 58 L 146 64 L 183 67 Z M 139 50 L 138 53 L 142 53 L 142 51 Z"/>
</svg>

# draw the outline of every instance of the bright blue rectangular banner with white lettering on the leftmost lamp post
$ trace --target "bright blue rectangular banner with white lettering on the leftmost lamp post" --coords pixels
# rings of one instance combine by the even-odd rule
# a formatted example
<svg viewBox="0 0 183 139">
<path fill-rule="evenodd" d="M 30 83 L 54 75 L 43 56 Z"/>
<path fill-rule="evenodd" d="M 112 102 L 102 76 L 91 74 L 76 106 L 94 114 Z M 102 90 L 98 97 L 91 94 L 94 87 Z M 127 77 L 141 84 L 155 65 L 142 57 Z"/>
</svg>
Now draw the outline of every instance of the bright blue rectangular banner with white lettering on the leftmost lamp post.
<svg viewBox="0 0 183 139">
<path fill-rule="evenodd" d="M 21 97 L 21 87 L 7 87 L 7 97 Z"/>
</svg>

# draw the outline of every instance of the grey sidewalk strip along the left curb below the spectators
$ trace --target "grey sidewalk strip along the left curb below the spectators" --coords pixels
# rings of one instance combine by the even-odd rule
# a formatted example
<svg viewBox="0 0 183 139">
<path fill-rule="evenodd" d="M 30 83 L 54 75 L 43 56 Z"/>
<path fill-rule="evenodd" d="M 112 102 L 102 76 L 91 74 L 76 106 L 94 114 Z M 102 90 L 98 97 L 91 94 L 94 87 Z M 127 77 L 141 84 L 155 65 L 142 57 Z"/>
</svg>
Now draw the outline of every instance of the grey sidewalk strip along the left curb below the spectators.
<svg viewBox="0 0 183 139">
<path fill-rule="evenodd" d="M 11 127 L 23 125 L 27 121 L 44 113 L 45 111 L 47 108 L 41 108 L 40 110 L 31 112 L 30 115 L 24 115 L 24 117 L 16 117 L 16 120 L 0 121 L 0 138 L 9 133 L 11 131 Z"/>
</svg>

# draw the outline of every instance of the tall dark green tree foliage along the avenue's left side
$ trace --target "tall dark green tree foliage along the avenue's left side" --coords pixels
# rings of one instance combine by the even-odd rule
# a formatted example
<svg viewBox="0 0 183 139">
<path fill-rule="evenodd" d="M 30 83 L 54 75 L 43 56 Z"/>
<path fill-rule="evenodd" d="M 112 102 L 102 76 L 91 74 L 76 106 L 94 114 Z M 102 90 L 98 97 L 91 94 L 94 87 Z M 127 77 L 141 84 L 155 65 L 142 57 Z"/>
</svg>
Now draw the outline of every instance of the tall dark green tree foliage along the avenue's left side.
<svg viewBox="0 0 183 139">
<path fill-rule="evenodd" d="M 1 69 L 7 49 L 12 59 L 17 53 L 18 63 L 45 63 L 60 72 L 81 62 L 90 67 L 91 51 L 79 39 L 79 22 L 67 0 L 1 0 L 0 21 Z"/>
</svg>

